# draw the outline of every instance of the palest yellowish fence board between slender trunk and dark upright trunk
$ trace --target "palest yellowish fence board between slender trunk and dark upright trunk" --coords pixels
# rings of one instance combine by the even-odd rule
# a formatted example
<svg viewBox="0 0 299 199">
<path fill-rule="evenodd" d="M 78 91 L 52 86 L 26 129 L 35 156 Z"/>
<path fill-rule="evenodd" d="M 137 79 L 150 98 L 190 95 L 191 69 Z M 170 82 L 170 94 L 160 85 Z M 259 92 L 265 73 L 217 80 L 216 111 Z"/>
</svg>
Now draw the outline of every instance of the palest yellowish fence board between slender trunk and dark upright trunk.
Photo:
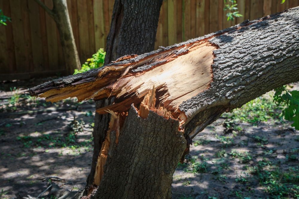
<svg viewBox="0 0 299 199">
<path fill-rule="evenodd" d="M 96 51 L 105 48 L 103 1 L 94 1 L 94 41 Z"/>
</svg>

